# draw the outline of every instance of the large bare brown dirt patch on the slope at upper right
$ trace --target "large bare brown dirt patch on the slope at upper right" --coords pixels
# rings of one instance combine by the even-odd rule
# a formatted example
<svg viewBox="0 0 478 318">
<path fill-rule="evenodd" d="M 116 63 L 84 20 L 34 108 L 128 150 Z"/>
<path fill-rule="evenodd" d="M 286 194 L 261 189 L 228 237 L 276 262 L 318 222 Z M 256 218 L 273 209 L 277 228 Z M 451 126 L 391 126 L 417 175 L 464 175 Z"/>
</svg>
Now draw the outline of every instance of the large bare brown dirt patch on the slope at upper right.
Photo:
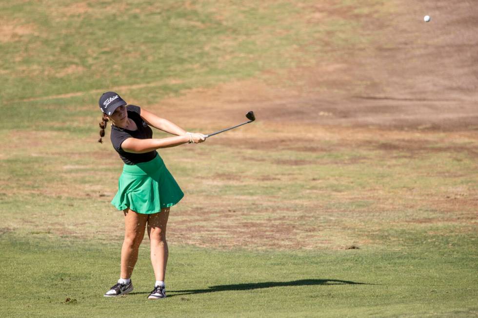
<svg viewBox="0 0 478 318">
<path fill-rule="evenodd" d="M 279 86 L 277 78 L 274 86 L 241 81 L 214 90 L 195 90 L 161 104 L 174 111 L 207 105 L 206 111 L 214 109 L 219 121 L 231 118 L 232 112 L 253 109 L 260 120 L 280 123 L 477 130 L 478 39 L 474 30 L 478 25 L 470 27 L 470 23 L 478 24 L 474 19 L 477 7 L 472 1 L 452 5 L 428 0 L 420 6 L 437 8 L 437 13 L 432 22 L 425 23 L 419 10 L 409 10 L 415 2 L 401 0 L 395 5 L 397 12 L 392 16 L 375 17 L 372 12 L 358 20 L 357 37 L 370 37 L 373 43 L 345 49 L 329 43 L 325 50 L 334 60 L 291 70 Z M 311 8 L 317 13 L 321 10 L 357 19 L 354 7 Z M 445 11 L 453 14 L 442 14 Z M 201 112 L 194 117 L 203 117 Z"/>
</svg>

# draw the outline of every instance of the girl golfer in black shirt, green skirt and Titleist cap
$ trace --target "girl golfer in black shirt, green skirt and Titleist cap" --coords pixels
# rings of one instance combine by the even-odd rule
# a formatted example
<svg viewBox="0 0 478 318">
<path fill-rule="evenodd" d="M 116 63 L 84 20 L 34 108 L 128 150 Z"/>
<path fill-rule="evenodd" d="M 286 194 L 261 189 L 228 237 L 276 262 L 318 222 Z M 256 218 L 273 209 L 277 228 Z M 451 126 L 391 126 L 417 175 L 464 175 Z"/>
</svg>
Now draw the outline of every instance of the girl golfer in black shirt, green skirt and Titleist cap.
<svg viewBox="0 0 478 318">
<path fill-rule="evenodd" d="M 138 259 L 139 244 L 147 228 L 151 244 L 151 263 L 156 278 L 148 299 L 165 298 L 164 276 L 168 261 L 166 224 L 170 207 L 177 204 L 184 194 L 156 150 L 185 143 L 200 143 L 205 140 L 204 135 L 186 132 L 145 109 L 127 105 L 119 94 L 114 92 L 102 94 L 99 103 L 103 118 L 98 141 L 102 142 L 106 122 L 111 120 L 111 142 L 124 162 L 118 192 L 111 201 L 124 213 L 121 271 L 118 283 L 104 296 L 115 297 L 133 290 L 131 274 Z M 176 137 L 152 139 L 153 131 L 149 126 Z"/>
</svg>

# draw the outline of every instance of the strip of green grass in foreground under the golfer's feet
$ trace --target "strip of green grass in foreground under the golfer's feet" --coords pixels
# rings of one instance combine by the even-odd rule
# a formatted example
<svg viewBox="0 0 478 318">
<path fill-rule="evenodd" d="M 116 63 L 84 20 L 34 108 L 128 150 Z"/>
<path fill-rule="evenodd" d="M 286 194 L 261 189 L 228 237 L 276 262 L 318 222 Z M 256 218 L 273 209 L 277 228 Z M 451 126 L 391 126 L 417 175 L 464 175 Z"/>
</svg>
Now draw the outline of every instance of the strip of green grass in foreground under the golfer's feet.
<svg viewBox="0 0 478 318">
<path fill-rule="evenodd" d="M 152 289 L 141 248 L 135 290 L 105 299 L 117 279 L 120 243 L 1 236 L 1 317 L 472 317 L 476 245 L 400 233 L 394 246 L 315 252 L 248 252 L 173 246 L 168 298 Z M 440 244 L 437 245 L 436 243 Z M 441 246 L 441 247 L 440 247 Z M 405 313 L 410 313 L 406 315 Z M 411 314 L 413 313 L 413 315 Z"/>
</svg>

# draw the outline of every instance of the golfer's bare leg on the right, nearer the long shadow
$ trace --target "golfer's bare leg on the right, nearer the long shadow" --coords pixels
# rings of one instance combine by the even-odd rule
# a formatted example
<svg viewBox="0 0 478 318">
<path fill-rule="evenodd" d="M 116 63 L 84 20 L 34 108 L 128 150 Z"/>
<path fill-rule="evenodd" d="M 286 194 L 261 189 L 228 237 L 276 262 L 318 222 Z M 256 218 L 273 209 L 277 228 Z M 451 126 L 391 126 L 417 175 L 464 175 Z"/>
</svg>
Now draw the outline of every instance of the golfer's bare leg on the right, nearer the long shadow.
<svg viewBox="0 0 478 318">
<path fill-rule="evenodd" d="M 151 264 L 157 281 L 164 281 L 168 263 L 168 243 L 166 242 L 166 225 L 169 207 L 161 212 L 151 214 L 148 219 L 148 236 L 151 243 Z"/>
</svg>

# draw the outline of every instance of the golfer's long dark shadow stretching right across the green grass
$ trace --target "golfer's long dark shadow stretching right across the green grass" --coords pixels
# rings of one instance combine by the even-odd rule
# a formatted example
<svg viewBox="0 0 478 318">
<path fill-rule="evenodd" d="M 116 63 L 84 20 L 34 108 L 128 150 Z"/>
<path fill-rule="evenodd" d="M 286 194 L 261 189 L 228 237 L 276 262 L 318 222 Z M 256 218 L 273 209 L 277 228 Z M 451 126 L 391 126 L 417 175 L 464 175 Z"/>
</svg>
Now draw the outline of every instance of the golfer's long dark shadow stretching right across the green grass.
<svg viewBox="0 0 478 318">
<path fill-rule="evenodd" d="M 339 281 L 339 280 L 265 281 L 265 282 L 256 282 L 256 283 L 210 286 L 209 288 L 205 288 L 205 289 L 170 290 L 168 291 L 168 298 L 174 297 L 174 296 L 180 296 L 180 295 L 205 294 L 205 293 L 215 293 L 215 292 L 233 291 L 233 290 L 252 290 L 252 289 L 271 288 L 271 287 L 310 286 L 310 285 L 373 285 L 373 284 L 355 282 L 355 281 Z M 175 294 L 171 295 L 171 293 L 175 293 Z M 130 293 L 130 294 L 134 295 L 134 294 L 147 294 L 147 293 Z"/>
</svg>

